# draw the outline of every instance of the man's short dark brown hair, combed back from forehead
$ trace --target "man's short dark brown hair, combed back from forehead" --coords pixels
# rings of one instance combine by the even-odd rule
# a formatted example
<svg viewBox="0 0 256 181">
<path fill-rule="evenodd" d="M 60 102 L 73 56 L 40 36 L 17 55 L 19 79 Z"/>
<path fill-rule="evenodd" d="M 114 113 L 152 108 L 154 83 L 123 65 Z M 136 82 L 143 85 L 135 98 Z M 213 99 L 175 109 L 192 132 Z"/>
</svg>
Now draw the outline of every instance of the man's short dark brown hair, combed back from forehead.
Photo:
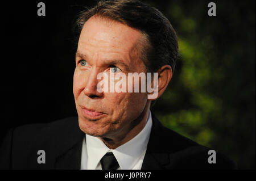
<svg viewBox="0 0 256 181">
<path fill-rule="evenodd" d="M 162 12 L 138 0 L 99 1 L 92 9 L 80 12 L 76 21 L 77 42 L 85 22 L 94 15 L 142 32 L 147 42 L 141 59 L 147 71 L 155 72 L 163 65 L 170 65 L 174 71 L 179 52 L 177 36 Z"/>
</svg>

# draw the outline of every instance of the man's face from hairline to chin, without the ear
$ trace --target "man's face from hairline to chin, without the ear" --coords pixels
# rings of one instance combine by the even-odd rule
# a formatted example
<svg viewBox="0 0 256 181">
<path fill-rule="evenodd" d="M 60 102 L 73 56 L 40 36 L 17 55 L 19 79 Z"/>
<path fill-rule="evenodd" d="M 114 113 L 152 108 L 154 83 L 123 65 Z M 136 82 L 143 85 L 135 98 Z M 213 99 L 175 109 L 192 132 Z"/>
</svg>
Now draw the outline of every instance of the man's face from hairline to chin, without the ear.
<svg viewBox="0 0 256 181">
<path fill-rule="evenodd" d="M 145 92 L 98 92 L 98 73 L 141 73 L 137 43 L 142 33 L 124 24 L 90 18 L 81 31 L 73 77 L 80 129 L 98 137 L 118 136 L 146 109 Z"/>
</svg>

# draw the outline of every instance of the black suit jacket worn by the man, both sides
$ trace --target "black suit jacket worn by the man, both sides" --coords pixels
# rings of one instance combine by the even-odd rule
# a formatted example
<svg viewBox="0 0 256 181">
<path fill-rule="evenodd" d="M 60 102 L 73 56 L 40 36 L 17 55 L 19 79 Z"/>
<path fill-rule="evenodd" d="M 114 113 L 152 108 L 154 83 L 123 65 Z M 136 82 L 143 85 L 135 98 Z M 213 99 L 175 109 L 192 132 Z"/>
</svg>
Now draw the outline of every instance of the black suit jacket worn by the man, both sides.
<svg viewBox="0 0 256 181">
<path fill-rule="evenodd" d="M 236 169 L 217 151 L 216 163 L 209 164 L 209 148 L 163 127 L 154 114 L 152 121 L 142 170 Z M 80 169 L 84 136 L 77 117 L 11 129 L 0 148 L 0 169 Z M 46 152 L 46 163 L 38 163 L 38 150 Z"/>
</svg>

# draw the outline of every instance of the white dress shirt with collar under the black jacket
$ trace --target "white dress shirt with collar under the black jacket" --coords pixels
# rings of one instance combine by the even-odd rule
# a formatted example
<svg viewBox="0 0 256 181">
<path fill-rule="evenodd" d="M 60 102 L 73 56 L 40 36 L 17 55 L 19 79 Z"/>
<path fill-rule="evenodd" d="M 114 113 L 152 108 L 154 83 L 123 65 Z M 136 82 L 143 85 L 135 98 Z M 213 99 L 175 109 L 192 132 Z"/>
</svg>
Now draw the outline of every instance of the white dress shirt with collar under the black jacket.
<svg viewBox="0 0 256 181">
<path fill-rule="evenodd" d="M 118 170 L 140 170 L 147 143 L 152 127 L 151 112 L 148 113 L 147 123 L 141 132 L 130 141 L 109 149 L 100 138 L 85 134 L 82 141 L 81 170 L 101 170 L 101 158 L 107 153 L 112 152 L 119 164 Z"/>
</svg>

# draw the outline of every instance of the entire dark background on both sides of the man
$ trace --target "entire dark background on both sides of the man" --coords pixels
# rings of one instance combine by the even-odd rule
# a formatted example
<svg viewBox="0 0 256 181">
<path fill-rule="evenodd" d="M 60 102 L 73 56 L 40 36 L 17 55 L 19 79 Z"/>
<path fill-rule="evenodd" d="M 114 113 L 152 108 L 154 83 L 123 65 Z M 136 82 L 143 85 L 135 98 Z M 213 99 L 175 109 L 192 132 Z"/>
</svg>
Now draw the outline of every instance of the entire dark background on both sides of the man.
<svg viewBox="0 0 256 181">
<path fill-rule="evenodd" d="M 72 24 L 96 1 L 1 2 L 1 127 L 76 115 Z M 255 1 L 144 1 L 179 37 L 180 59 L 153 107 L 167 127 L 255 169 Z"/>
</svg>

